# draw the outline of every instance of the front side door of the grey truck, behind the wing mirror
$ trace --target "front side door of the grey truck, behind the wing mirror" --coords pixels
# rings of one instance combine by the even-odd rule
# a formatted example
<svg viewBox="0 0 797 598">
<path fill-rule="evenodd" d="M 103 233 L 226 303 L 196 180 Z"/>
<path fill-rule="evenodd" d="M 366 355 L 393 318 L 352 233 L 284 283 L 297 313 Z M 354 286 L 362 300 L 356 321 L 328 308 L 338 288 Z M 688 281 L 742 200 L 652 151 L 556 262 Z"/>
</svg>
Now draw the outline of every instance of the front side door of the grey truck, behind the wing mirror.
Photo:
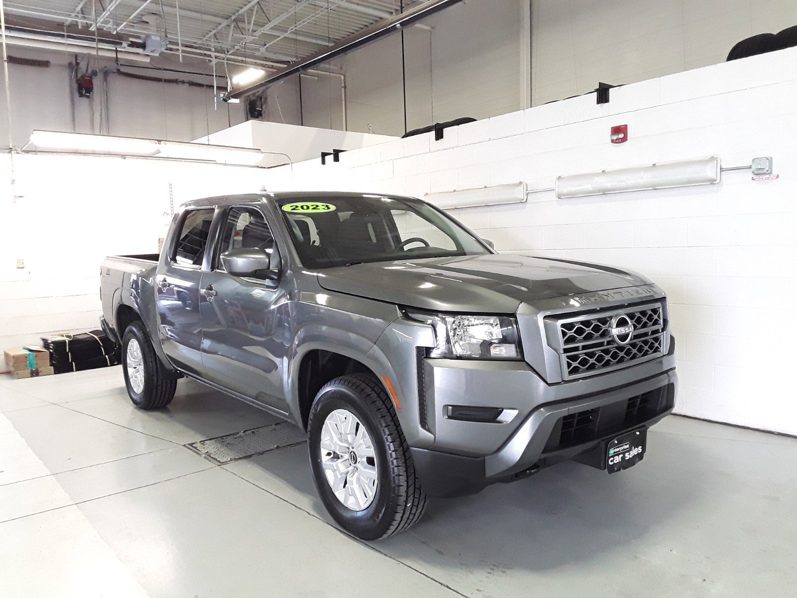
<svg viewBox="0 0 797 598">
<path fill-rule="evenodd" d="M 202 277 L 202 363 L 207 380 L 286 411 L 281 364 L 288 303 L 277 281 L 224 270 L 221 254 L 239 247 L 277 251 L 263 212 L 231 207 L 222 218 L 210 272 Z"/>
</svg>

